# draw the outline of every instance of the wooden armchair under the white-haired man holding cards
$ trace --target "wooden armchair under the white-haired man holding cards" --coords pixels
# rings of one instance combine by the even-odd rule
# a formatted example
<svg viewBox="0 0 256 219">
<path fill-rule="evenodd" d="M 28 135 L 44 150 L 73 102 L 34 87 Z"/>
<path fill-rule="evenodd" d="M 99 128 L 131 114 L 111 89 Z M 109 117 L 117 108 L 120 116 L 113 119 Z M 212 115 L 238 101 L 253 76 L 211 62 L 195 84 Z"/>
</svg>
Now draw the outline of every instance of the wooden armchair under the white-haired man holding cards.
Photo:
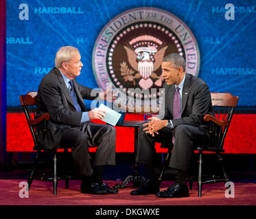
<svg viewBox="0 0 256 219">
<path fill-rule="evenodd" d="M 32 134 L 32 138 L 34 140 L 34 148 L 33 150 L 36 151 L 36 156 L 34 158 L 34 165 L 32 171 L 30 172 L 29 179 L 27 181 L 28 189 L 32 185 L 33 179 L 37 178 L 44 181 L 52 181 L 54 186 L 54 194 L 57 194 L 57 185 L 58 179 L 64 179 L 66 183 L 66 188 L 69 188 L 69 177 L 66 175 L 65 177 L 58 177 L 57 178 L 57 153 L 54 153 L 54 173 L 53 177 L 34 177 L 34 172 L 38 166 L 38 159 L 39 154 L 43 152 L 43 146 L 40 144 L 39 138 L 44 134 L 46 131 L 46 121 L 49 120 L 49 114 L 45 113 L 40 117 L 36 118 L 36 96 L 37 92 L 28 92 L 26 95 L 19 96 L 21 101 L 21 105 L 23 106 L 23 111 L 25 117 L 27 119 L 27 124 L 30 127 L 30 132 Z M 68 149 L 65 149 L 65 153 L 68 152 Z"/>
</svg>

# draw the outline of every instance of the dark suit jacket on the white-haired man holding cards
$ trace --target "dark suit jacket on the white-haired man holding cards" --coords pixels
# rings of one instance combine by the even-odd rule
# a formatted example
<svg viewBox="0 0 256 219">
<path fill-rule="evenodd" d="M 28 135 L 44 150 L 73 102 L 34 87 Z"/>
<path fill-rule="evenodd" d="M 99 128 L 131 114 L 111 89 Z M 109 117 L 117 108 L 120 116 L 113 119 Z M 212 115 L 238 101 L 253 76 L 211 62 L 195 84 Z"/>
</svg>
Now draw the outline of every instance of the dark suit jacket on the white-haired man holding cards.
<svg viewBox="0 0 256 219">
<path fill-rule="evenodd" d="M 84 105 L 83 99 L 93 100 L 98 95 L 96 90 L 84 87 L 73 79 L 73 87 L 78 97 L 82 112 L 89 111 Z M 82 112 L 76 112 L 75 106 L 69 94 L 65 81 L 58 68 L 43 77 L 38 88 L 37 115 L 49 113 L 47 132 L 40 138 L 45 151 L 54 153 L 59 146 L 62 131 L 65 129 L 80 130 Z"/>
</svg>

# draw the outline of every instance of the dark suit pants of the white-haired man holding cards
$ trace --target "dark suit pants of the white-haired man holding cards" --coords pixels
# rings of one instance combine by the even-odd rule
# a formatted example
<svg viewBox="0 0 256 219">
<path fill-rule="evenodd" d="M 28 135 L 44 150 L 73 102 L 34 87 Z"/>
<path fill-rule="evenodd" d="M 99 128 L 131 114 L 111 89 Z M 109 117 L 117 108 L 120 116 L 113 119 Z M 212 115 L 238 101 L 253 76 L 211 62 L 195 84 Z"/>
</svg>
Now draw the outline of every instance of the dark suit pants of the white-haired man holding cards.
<svg viewBox="0 0 256 219">
<path fill-rule="evenodd" d="M 115 128 L 86 122 L 81 130 L 67 129 L 60 140 L 61 148 L 71 148 L 71 155 L 78 173 L 82 177 L 93 174 L 89 159 L 89 147 L 97 146 L 94 166 L 115 166 Z"/>
</svg>

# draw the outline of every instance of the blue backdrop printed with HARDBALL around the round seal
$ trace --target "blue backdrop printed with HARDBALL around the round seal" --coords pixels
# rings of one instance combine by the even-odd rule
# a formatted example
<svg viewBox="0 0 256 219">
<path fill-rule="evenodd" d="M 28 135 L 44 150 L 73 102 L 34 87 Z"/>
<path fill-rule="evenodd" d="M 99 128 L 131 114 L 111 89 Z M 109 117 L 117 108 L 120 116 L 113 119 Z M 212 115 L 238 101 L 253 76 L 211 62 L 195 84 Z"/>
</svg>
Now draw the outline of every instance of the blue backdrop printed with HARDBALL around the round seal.
<svg viewBox="0 0 256 219">
<path fill-rule="evenodd" d="M 27 4 L 28 14 L 21 3 Z M 235 20 L 226 20 L 226 3 L 235 5 Z M 78 82 L 97 88 L 92 53 L 95 40 L 112 18 L 132 8 L 160 8 L 191 29 L 200 50 L 200 72 L 211 92 L 240 96 L 240 106 L 256 106 L 256 1 L 170 0 L 7 0 L 7 106 L 19 95 L 37 90 L 54 67 L 59 47 L 78 47 L 84 68 Z M 22 13 L 21 13 L 22 12 Z M 28 16 L 28 20 L 22 20 Z M 23 18 L 22 18 L 23 17 Z"/>
</svg>

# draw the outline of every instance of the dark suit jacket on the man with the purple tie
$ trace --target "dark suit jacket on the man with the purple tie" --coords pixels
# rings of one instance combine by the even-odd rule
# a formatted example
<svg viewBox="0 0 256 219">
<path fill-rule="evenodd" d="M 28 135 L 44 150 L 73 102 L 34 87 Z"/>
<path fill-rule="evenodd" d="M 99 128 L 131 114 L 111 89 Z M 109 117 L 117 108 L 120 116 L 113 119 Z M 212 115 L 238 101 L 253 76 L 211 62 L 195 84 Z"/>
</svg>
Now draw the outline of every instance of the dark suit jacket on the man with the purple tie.
<svg viewBox="0 0 256 219">
<path fill-rule="evenodd" d="M 165 83 L 163 88 L 165 88 L 165 105 L 161 108 L 158 117 L 163 120 L 172 120 L 175 85 L 167 86 Z M 183 85 L 181 118 L 172 120 L 174 129 L 177 125 L 202 126 L 204 128 L 203 126 L 206 123 L 202 117 L 205 114 L 214 116 L 211 94 L 207 83 L 186 73 Z"/>
</svg>

